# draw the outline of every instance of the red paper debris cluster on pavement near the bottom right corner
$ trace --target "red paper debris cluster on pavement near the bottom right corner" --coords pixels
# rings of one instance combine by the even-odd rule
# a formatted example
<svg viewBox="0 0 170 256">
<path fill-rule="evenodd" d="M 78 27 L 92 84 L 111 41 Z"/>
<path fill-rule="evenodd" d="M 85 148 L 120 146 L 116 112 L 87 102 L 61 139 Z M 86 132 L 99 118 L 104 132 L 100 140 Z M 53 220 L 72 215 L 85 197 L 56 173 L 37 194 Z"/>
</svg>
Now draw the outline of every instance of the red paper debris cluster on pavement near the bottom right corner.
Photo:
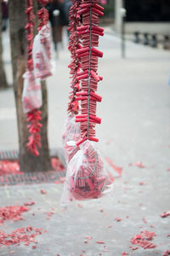
<svg viewBox="0 0 170 256">
<path fill-rule="evenodd" d="M 133 238 L 131 239 L 132 244 L 139 245 L 144 249 L 152 249 L 156 247 L 155 244 L 150 242 L 150 240 L 152 240 L 154 236 L 156 236 L 154 232 L 149 232 L 147 230 L 144 230 L 144 231 L 141 231 L 140 233 L 142 235 L 139 234 L 139 235 L 133 236 Z"/>
</svg>

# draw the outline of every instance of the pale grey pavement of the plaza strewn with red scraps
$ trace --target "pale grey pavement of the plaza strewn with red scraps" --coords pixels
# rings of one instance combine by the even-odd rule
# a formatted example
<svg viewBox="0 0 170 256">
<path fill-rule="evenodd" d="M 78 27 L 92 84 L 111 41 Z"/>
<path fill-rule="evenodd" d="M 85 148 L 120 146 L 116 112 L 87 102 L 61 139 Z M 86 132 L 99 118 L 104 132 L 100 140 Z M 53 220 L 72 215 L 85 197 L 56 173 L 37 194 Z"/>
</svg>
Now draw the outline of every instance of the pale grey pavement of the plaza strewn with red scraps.
<svg viewBox="0 0 170 256">
<path fill-rule="evenodd" d="M 11 79 L 8 37 L 4 39 L 4 58 Z M 66 44 L 66 40 L 65 40 Z M 122 166 L 122 177 L 116 178 L 113 194 L 98 201 L 76 202 L 63 209 L 59 199 L 62 184 L 10 186 L 0 188 L 0 205 L 10 206 L 35 201 L 25 220 L 5 223 L 1 230 L 10 232 L 31 225 L 47 230 L 37 236 L 37 248 L 0 247 L 0 255 L 163 255 L 170 249 L 170 52 L 127 42 L 127 58 L 120 57 L 120 39 L 106 34 L 100 39 L 105 57 L 99 61 L 104 80 L 98 93 L 102 124 L 97 128 L 98 148 L 116 166 Z M 49 129 L 51 148 L 61 146 L 62 127 L 70 91 L 70 61 L 66 46 L 59 52 L 56 73 L 48 79 Z M 0 91 L 0 150 L 18 148 L 17 125 L 12 89 Z M 144 168 L 129 166 L 141 161 Z M 41 189 L 47 194 L 42 195 Z M 79 203 L 81 205 L 79 205 Z M 53 208 L 54 215 L 47 219 Z M 32 213 L 35 213 L 32 215 Z M 115 218 L 122 218 L 116 222 Z M 144 219 L 147 223 L 145 223 Z M 111 228 L 108 228 L 112 225 Z M 154 231 L 155 249 L 133 251 L 130 240 L 142 230 Z M 86 236 L 93 239 L 88 243 Z M 98 244 L 95 241 L 105 241 Z M 33 245 L 33 244 L 32 244 Z M 105 247 L 104 247 L 105 246 Z M 133 245 L 135 247 L 135 245 Z M 82 251 L 85 250 L 85 253 Z M 101 253 L 101 254 L 99 254 Z"/>
</svg>

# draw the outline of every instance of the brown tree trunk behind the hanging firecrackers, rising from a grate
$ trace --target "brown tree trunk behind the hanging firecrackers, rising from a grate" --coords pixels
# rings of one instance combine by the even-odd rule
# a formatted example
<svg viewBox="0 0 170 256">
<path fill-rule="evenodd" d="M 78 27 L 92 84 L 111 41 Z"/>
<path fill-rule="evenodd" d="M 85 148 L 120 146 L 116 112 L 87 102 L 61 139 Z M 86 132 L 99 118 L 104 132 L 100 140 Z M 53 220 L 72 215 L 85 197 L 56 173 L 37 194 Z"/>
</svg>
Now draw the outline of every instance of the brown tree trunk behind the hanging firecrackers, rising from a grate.
<svg viewBox="0 0 170 256">
<path fill-rule="evenodd" d="M 36 3 L 37 1 L 34 1 Z M 35 4 L 37 5 L 37 4 Z M 34 6 L 35 8 L 35 6 Z M 26 114 L 22 108 L 23 74 L 26 72 L 26 0 L 9 0 L 9 23 L 11 54 L 14 77 L 14 97 L 17 110 L 20 170 L 22 172 L 42 172 L 51 170 L 48 152 L 48 103 L 46 84 L 42 83 L 42 148 L 39 156 L 34 156 L 26 149 L 28 130 Z"/>
</svg>

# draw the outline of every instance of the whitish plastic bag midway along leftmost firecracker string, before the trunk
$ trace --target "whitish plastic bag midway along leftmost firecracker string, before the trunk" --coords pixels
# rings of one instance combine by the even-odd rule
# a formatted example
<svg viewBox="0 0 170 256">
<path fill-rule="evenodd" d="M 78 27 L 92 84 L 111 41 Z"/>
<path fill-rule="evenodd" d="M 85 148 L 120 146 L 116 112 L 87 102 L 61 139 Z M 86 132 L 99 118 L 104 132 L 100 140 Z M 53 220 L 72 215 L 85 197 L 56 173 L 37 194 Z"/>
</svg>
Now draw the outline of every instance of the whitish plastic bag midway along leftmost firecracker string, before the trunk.
<svg viewBox="0 0 170 256">
<path fill-rule="evenodd" d="M 36 79 L 33 71 L 26 71 L 23 75 L 24 89 L 22 102 L 24 113 L 29 113 L 42 106 L 42 90 L 40 79 Z"/>
</svg>

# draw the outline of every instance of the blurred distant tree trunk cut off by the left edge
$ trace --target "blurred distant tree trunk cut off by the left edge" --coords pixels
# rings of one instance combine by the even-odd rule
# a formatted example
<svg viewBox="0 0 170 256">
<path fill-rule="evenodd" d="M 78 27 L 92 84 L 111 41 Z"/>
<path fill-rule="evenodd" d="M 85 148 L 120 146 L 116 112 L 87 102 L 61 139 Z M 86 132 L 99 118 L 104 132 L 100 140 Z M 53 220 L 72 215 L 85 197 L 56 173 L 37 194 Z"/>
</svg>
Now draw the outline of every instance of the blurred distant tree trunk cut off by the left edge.
<svg viewBox="0 0 170 256">
<path fill-rule="evenodd" d="M 3 67 L 2 16 L 2 3 L 0 1 L 0 89 L 8 87 Z"/>
</svg>

